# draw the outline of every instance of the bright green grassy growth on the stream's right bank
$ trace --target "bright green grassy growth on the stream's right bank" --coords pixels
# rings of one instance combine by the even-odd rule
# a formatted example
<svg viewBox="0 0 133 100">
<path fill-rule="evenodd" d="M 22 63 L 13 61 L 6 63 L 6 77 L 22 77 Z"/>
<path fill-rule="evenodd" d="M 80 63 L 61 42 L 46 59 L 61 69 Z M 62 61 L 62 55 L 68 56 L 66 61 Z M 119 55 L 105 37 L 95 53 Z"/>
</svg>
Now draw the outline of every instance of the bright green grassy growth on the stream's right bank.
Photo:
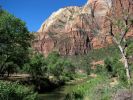
<svg viewBox="0 0 133 100">
<path fill-rule="evenodd" d="M 105 75 L 74 86 L 66 95 L 65 100 L 112 100 L 116 91 L 125 89 L 122 84 L 110 86 L 110 79 Z"/>
</svg>

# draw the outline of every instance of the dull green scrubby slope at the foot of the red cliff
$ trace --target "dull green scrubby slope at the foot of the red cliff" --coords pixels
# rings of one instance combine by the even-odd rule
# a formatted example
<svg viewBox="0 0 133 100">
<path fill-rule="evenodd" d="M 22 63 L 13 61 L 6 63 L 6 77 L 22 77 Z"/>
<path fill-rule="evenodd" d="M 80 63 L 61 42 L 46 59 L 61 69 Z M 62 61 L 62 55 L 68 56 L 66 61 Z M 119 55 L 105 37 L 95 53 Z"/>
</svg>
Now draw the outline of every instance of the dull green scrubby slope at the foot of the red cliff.
<svg viewBox="0 0 133 100">
<path fill-rule="evenodd" d="M 70 59 L 76 67 L 80 69 L 85 69 L 86 67 L 90 68 L 89 66 L 91 66 L 92 61 L 104 60 L 107 57 L 114 56 L 120 58 L 120 53 L 115 45 L 111 45 L 106 48 L 92 49 L 86 55 L 77 55 L 73 57 L 68 57 L 68 59 Z"/>
</svg>

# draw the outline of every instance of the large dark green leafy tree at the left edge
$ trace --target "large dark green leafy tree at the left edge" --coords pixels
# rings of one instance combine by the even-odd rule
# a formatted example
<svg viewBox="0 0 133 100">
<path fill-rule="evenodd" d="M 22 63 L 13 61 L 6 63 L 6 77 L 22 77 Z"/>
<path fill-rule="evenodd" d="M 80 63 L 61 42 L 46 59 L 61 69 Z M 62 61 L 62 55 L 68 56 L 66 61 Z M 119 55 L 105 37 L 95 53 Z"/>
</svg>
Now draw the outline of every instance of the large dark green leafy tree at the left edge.
<svg viewBox="0 0 133 100">
<path fill-rule="evenodd" d="M 28 60 L 28 48 L 32 35 L 25 23 L 0 11 L 0 74 L 14 72 Z M 13 67 L 14 66 L 14 67 Z"/>
</svg>

